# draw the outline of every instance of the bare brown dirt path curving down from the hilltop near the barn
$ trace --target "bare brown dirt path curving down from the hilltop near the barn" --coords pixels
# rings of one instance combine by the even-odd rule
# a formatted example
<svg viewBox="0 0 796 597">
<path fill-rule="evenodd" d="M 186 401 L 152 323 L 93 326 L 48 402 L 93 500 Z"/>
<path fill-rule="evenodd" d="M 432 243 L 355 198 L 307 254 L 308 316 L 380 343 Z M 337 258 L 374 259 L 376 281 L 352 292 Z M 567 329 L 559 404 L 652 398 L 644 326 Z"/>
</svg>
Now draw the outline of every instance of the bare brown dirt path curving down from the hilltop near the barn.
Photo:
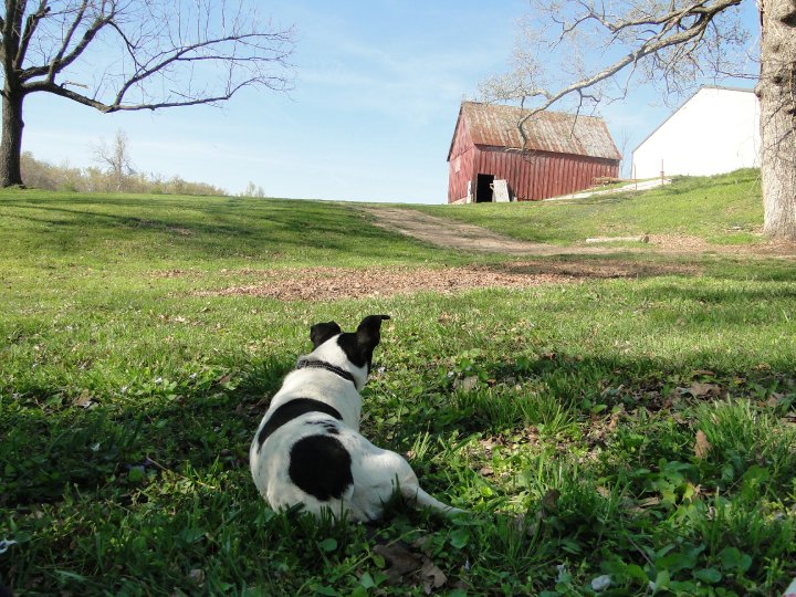
<svg viewBox="0 0 796 597">
<path fill-rule="evenodd" d="M 453 219 L 438 218 L 413 209 L 363 208 L 373 217 L 373 223 L 386 230 L 400 232 L 407 237 L 462 251 L 505 253 L 517 256 L 530 255 L 599 255 L 633 252 L 658 252 L 669 254 L 722 253 L 757 256 L 796 256 L 793 243 L 766 243 L 756 245 L 709 244 L 698 237 L 679 234 L 649 234 L 648 248 L 595 247 L 576 244 L 558 247 L 554 244 L 521 241 L 499 234 L 480 226 L 459 222 Z"/>
</svg>

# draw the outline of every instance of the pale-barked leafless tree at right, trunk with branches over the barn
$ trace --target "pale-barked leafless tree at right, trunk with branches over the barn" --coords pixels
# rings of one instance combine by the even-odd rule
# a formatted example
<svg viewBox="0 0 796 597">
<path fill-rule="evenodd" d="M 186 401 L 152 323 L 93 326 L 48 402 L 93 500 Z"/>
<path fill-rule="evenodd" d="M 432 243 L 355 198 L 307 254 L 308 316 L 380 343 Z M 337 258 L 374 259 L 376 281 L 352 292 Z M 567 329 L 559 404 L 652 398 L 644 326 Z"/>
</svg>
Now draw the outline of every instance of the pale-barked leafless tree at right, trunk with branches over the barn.
<svg viewBox="0 0 796 597">
<path fill-rule="evenodd" d="M 764 229 L 796 240 L 796 0 L 757 0 L 758 73 L 744 66 L 743 1 L 752 0 L 540 1 L 521 22 L 511 72 L 486 81 L 482 95 L 531 108 L 517 123 L 525 139 L 528 119 L 559 102 L 579 112 L 648 82 L 666 96 L 705 76 L 755 78 Z"/>
</svg>

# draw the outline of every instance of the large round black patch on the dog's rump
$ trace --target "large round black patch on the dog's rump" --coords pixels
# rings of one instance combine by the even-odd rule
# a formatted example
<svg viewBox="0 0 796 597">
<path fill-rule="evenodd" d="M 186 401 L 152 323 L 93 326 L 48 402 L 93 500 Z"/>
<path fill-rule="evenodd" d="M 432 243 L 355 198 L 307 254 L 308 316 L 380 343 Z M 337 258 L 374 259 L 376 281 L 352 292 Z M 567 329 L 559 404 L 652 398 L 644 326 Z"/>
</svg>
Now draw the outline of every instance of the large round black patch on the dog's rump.
<svg viewBox="0 0 796 597">
<path fill-rule="evenodd" d="M 287 473 L 304 493 L 327 502 L 342 498 L 354 483 L 350 463 L 350 454 L 337 438 L 307 436 L 291 448 Z"/>
</svg>

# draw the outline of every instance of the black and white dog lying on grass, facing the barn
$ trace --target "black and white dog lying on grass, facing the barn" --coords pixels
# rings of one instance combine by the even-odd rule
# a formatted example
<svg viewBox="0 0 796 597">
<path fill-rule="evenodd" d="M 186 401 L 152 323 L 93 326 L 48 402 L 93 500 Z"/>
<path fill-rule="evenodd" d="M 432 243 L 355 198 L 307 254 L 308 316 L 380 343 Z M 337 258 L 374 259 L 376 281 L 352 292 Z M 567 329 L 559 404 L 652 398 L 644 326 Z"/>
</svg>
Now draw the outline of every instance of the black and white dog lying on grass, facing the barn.
<svg viewBox="0 0 796 597">
<path fill-rule="evenodd" d="M 274 510 L 303 504 L 316 516 L 328 509 L 373 521 L 400 491 L 419 507 L 461 512 L 426 493 L 400 455 L 359 434 L 359 390 L 384 320 L 368 315 L 354 333 L 335 322 L 310 328 L 314 349 L 285 377 L 249 451 L 254 483 Z"/>
</svg>

